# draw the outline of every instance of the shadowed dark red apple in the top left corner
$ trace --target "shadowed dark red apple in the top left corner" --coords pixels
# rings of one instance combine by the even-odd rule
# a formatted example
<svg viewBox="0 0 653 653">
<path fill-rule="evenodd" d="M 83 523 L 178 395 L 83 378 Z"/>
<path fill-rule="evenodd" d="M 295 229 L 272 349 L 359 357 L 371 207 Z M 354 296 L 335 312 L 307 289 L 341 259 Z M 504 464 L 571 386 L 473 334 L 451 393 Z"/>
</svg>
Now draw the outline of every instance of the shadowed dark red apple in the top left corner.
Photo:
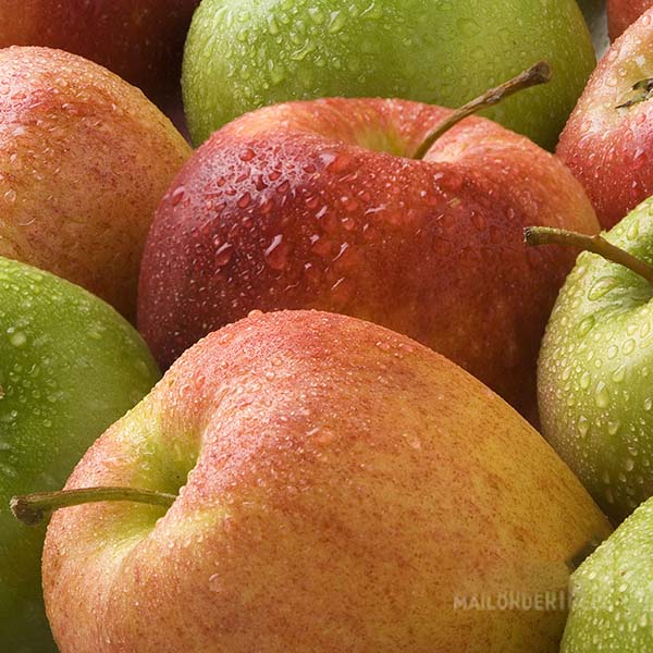
<svg viewBox="0 0 653 653">
<path fill-rule="evenodd" d="M 0 0 L 0 48 L 46 46 L 113 71 L 147 95 L 178 86 L 199 0 Z"/>
</svg>

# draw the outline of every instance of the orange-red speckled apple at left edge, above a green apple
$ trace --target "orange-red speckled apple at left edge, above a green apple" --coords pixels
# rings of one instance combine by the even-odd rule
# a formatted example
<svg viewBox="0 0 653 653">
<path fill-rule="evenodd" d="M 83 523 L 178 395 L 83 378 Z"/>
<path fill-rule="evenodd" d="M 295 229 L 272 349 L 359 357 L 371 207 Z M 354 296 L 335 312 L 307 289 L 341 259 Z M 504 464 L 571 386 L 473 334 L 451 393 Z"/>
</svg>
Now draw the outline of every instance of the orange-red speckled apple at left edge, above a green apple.
<svg viewBox="0 0 653 653">
<path fill-rule="evenodd" d="M 0 50 L 0 256 L 133 318 L 153 211 L 190 148 L 133 86 L 81 57 Z"/>
</svg>

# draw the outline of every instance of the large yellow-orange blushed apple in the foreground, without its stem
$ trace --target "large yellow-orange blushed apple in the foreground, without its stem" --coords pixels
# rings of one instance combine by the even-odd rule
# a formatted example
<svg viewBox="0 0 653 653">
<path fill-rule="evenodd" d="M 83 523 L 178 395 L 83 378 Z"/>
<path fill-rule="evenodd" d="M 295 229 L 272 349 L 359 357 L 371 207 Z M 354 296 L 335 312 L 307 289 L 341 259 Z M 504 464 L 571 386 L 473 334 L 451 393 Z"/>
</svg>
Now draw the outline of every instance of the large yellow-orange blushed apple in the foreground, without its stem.
<svg viewBox="0 0 653 653">
<path fill-rule="evenodd" d="M 454 596 L 564 590 L 566 560 L 609 532 L 480 382 L 316 311 L 255 311 L 186 352 L 66 483 L 91 485 L 178 496 L 54 514 L 44 591 L 62 653 L 554 652 L 564 611 Z"/>
</svg>

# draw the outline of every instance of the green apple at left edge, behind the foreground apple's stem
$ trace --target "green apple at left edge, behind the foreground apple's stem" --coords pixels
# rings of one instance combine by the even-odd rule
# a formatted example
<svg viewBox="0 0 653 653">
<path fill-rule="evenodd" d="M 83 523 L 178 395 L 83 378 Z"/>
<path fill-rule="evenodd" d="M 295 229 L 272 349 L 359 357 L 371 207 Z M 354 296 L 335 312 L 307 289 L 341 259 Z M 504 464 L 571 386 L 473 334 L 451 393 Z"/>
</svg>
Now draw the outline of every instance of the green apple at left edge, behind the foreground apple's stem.
<svg viewBox="0 0 653 653">
<path fill-rule="evenodd" d="M 79 286 L 0 257 L 0 649 L 57 651 L 42 606 L 45 529 L 14 494 L 58 490 L 159 372 L 140 336 Z"/>
</svg>

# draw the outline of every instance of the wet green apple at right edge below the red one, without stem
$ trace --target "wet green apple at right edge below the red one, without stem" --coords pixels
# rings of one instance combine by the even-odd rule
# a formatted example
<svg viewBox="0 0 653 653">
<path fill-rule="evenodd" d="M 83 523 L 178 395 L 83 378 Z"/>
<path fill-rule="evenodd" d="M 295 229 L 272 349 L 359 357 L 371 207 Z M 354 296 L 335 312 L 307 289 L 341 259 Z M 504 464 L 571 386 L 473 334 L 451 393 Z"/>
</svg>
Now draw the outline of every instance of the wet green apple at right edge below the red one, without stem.
<svg viewBox="0 0 653 653">
<path fill-rule="evenodd" d="M 653 263 L 653 199 L 605 237 Z M 653 287 L 623 266 L 579 256 L 540 350 L 544 436 L 620 521 L 653 495 Z"/>
</svg>

